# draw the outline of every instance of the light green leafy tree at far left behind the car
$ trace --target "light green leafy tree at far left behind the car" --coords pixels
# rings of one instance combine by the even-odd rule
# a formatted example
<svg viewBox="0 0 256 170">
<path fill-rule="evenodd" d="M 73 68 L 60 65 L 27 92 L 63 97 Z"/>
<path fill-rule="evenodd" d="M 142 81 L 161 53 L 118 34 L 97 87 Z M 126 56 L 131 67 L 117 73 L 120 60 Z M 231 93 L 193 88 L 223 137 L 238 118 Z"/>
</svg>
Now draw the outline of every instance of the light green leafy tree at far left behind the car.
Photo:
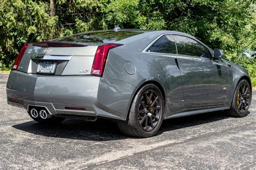
<svg viewBox="0 0 256 170">
<path fill-rule="evenodd" d="M 0 5 L 0 67 L 10 67 L 26 42 L 36 42 L 58 34 L 58 17 L 50 17 L 48 4 L 32 0 L 1 1 Z"/>
</svg>

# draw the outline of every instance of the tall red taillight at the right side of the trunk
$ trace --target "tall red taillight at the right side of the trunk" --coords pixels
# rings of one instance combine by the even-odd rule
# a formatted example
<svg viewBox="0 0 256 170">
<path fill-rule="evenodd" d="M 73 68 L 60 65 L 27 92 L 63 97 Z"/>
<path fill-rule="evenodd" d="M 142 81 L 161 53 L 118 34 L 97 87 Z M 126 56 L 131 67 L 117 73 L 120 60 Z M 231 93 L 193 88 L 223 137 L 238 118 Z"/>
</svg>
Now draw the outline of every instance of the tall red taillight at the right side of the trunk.
<svg viewBox="0 0 256 170">
<path fill-rule="evenodd" d="M 102 76 L 109 50 L 123 44 L 100 45 L 95 53 L 91 75 Z"/>
</svg>

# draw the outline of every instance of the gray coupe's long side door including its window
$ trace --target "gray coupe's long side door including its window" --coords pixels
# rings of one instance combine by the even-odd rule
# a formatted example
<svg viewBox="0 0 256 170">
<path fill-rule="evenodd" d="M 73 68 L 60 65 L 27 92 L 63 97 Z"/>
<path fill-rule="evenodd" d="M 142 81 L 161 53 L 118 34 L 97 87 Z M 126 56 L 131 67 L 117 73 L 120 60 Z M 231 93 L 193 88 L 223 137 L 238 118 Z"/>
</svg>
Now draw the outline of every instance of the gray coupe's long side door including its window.
<svg viewBox="0 0 256 170">
<path fill-rule="evenodd" d="M 174 35 L 186 108 L 224 105 L 228 74 L 224 62 L 195 39 Z"/>
</svg>

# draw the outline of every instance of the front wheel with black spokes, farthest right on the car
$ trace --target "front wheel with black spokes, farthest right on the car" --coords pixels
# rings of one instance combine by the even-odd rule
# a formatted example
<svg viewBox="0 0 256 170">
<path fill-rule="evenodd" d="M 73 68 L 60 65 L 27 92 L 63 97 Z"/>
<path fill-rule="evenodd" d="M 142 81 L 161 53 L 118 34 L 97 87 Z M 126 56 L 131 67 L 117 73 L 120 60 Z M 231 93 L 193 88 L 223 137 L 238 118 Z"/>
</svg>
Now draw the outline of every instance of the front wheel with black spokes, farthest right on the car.
<svg viewBox="0 0 256 170">
<path fill-rule="evenodd" d="M 248 115 L 251 95 L 250 84 L 247 80 L 242 79 L 235 89 L 231 108 L 227 110 L 227 114 L 231 117 L 244 117 Z"/>
</svg>

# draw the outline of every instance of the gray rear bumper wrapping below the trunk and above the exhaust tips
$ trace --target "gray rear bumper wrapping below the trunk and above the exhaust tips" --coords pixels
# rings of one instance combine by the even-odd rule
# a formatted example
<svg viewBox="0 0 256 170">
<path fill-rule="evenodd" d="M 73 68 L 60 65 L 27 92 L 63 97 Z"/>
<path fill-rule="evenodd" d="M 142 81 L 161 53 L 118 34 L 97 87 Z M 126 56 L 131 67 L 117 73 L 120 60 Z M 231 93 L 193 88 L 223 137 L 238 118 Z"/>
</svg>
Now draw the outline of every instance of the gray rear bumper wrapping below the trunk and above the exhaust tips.
<svg viewBox="0 0 256 170">
<path fill-rule="evenodd" d="M 10 73 L 8 104 L 46 107 L 50 114 L 107 117 L 125 120 L 134 87 L 129 83 L 96 76 L 52 76 Z M 15 101 L 15 102 L 14 102 Z M 68 108 L 85 108 L 70 110 Z"/>
</svg>

